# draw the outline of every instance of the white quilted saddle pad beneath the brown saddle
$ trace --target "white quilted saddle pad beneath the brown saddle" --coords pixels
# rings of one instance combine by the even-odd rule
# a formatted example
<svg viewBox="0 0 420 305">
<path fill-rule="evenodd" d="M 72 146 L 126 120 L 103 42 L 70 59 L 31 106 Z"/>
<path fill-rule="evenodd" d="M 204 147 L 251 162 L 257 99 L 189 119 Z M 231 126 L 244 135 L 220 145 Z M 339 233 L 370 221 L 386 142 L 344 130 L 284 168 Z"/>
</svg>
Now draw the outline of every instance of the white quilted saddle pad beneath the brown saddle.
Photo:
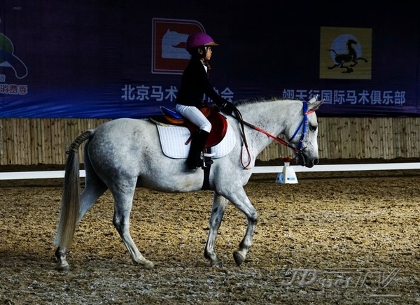
<svg viewBox="0 0 420 305">
<path fill-rule="evenodd" d="M 158 134 L 160 138 L 160 145 L 162 151 L 167 157 L 174 159 L 186 159 L 188 152 L 190 152 L 190 143 L 186 145 L 186 141 L 190 137 L 190 130 L 182 126 L 162 126 L 158 127 Z M 221 158 L 228 155 L 229 152 L 235 147 L 236 136 L 235 132 L 230 125 L 225 138 L 218 143 L 218 145 L 211 148 L 211 153 L 214 153 L 213 159 Z"/>
</svg>

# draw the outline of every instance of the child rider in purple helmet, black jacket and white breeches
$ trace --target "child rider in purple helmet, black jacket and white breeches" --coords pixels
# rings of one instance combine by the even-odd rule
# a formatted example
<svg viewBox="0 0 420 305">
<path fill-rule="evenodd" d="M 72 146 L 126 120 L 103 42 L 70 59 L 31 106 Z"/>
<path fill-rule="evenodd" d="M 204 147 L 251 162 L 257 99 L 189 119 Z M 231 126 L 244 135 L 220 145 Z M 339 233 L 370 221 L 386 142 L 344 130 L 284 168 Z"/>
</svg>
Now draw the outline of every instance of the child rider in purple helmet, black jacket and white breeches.
<svg viewBox="0 0 420 305">
<path fill-rule="evenodd" d="M 218 44 L 207 34 L 195 33 L 188 36 L 186 50 L 191 59 L 183 71 L 181 87 L 176 96 L 176 111 L 198 127 L 197 132 L 193 134 L 187 159 L 187 167 L 190 170 L 202 166 L 201 153 L 211 131 L 211 123 L 200 111 L 204 106 L 203 95 L 206 94 L 226 115 L 230 115 L 235 108 L 230 101 L 223 99 L 209 82 L 209 61 L 211 47 L 214 45 Z M 209 160 L 206 165 L 211 163 L 213 161 Z"/>
</svg>

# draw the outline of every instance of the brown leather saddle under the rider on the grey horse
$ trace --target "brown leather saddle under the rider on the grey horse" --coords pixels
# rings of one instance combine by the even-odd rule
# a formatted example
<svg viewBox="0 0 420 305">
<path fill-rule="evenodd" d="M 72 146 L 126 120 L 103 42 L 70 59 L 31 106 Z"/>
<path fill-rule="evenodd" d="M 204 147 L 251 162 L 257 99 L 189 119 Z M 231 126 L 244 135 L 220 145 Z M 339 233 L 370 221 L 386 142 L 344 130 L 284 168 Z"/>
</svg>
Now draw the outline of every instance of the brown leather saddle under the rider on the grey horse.
<svg viewBox="0 0 420 305">
<path fill-rule="evenodd" d="M 166 125 L 187 127 L 188 130 L 190 130 L 191 135 L 197 131 L 198 127 L 179 113 L 163 106 L 160 107 L 160 110 L 162 111 L 162 116 L 151 118 L 153 121 Z M 226 132 L 228 132 L 228 120 L 226 120 L 225 116 L 214 107 L 203 107 L 200 111 L 206 116 L 207 120 L 211 122 L 211 132 L 207 139 L 206 147 L 216 146 L 223 140 Z M 190 141 L 191 136 L 186 144 Z"/>
</svg>

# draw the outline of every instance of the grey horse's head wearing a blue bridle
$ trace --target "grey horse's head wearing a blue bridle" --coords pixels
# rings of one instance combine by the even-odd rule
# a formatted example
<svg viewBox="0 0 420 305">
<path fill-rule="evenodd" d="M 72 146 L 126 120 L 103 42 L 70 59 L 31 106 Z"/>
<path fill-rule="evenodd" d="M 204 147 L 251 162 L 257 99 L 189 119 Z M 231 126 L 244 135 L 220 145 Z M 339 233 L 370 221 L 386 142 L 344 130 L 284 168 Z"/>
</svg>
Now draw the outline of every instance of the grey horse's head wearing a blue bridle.
<svg viewBox="0 0 420 305">
<path fill-rule="evenodd" d="M 323 99 L 317 101 L 318 96 L 313 97 L 305 105 L 303 102 L 302 121 L 290 136 L 289 143 L 293 146 L 297 164 L 312 167 L 318 164 L 318 121 L 316 109 L 321 106 Z"/>
</svg>

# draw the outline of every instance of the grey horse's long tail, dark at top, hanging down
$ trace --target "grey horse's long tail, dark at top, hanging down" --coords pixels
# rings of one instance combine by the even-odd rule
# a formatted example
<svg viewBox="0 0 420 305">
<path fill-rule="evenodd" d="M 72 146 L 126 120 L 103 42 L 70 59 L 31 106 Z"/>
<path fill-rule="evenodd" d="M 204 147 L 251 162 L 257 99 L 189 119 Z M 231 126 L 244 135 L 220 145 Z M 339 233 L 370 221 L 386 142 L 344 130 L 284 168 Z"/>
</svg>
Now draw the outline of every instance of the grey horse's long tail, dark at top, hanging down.
<svg viewBox="0 0 420 305">
<path fill-rule="evenodd" d="M 69 155 L 66 161 L 66 171 L 64 174 L 64 187 L 62 194 L 62 206 L 59 213 L 57 235 L 55 236 L 55 246 L 68 248 L 73 240 L 78 215 L 80 209 L 80 165 L 78 148 L 83 141 L 89 139 L 94 134 L 94 129 L 87 130 L 80 134 L 66 153 Z"/>
</svg>

